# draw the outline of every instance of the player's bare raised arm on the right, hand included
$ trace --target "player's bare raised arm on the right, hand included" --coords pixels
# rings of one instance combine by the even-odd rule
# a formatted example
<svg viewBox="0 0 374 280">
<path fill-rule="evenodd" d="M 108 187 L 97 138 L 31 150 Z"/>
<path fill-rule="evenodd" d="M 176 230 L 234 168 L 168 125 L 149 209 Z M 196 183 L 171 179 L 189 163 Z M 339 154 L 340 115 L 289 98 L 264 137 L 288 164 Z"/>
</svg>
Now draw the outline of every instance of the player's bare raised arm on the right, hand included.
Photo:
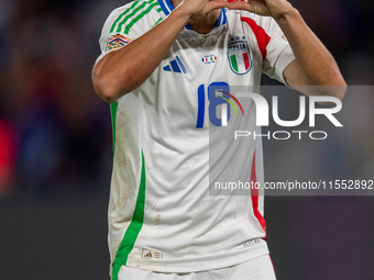
<svg viewBox="0 0 374 280">
<path fill-rule="evenodd" d="M 302 93 L 328 94 L 342 99 L 345 81 L 330 52 L 308 27 L 300 13 L 286 0 L 233 1 L 229 9 L 272 16 L 287 37 L 296 60 L 284 70 L 286 82 Z M 298 86 L 339 86 L 306 89 Z"/>
</svg>

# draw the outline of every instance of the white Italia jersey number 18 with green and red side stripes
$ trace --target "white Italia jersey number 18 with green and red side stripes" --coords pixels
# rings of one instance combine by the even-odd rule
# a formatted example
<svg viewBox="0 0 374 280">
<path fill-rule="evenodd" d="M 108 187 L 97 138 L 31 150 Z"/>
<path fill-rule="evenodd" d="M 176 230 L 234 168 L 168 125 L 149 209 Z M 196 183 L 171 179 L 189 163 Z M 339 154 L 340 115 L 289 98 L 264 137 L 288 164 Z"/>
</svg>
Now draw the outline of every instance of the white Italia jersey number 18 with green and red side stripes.
<svg viewBox="0 0 374 280">
<path fill-rule="evenodd" d="M 99 41 L 101 57 L 131 44 L 173 9 L 169 0 L 140 0 L 114 10 Z M 209 34 L 187 24 L 150 78 L 111 104 L 113 279 L 120 266 L 193 272 L 268 254 L 263 197 L 209 195 L 211 173 L 219 181 L 234 173 L 263 182 L 261 138 L 222 154 L 222 165 L 212 153 L 219 139 L 209 127 L 222 126 L 216 109 L 233 103 L 232 88 L 258 87 L 262 72 L 285 82 L 283 71 L 294 59 L 272 18 L 222 9 Z M 219 97 L 220 91 L 228 94 Z M 241 122 L 260 134 L 254 103 L 240 103 L 245 112 Z M 231 104 L 226 108 L 231 110 L 229 124 L 239 120 Z"/>
</svg>

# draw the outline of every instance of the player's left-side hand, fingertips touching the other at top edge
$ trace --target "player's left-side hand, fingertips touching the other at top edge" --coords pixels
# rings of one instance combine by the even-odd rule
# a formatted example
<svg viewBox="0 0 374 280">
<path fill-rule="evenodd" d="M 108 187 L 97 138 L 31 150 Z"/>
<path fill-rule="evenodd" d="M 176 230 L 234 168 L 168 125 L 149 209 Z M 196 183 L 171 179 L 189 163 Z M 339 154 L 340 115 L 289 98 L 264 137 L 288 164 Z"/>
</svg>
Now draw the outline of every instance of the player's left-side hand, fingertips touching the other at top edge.
<svg viewBox="0 0 374 280">
<path fill-rule="evenodd" d="M 183 9 L 189 18 L 206 15 L 212 10 L 228 8 L 229 3 L 224 0 L 183 0 L 178 9 Z"/>
</svg>

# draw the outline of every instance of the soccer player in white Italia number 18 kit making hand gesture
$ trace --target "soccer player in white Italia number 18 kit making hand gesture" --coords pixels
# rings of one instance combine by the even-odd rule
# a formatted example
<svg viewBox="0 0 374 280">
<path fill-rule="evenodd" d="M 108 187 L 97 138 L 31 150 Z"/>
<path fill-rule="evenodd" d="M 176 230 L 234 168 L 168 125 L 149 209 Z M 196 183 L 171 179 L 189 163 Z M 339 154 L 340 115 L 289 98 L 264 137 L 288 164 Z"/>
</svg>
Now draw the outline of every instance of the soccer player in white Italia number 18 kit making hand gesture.
<svg viewBox="0 0 374 280">
<path fill-rule="evenodd" d="M 92 80 L 113 124 L 112 279 L 275 279 L 263 197 L 208 194 L 212 169 L 263 182 L 261 138 L 222 167 L 209 161 L 209 127 L 222 125 L 216 109 L 234 100 L 230 89 L 260 86 L 262 72 L 289 87 L 343 86 L 302 90 L 341 99 L 331 54 L 286 0 L 134 1 L 109 15 L 99 43 Z M 253 102 L 243 111 L 257 130 Z"/>
</svg>

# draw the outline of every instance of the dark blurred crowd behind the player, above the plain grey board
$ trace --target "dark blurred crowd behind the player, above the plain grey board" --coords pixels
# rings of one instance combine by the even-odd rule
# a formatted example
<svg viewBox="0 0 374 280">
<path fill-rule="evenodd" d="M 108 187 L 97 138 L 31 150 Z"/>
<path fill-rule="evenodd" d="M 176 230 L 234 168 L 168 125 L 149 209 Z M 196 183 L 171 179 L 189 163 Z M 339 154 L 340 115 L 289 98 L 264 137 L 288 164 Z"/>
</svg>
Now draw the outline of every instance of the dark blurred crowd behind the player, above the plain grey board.
<svg viewBox="0 0 374 280">
<path fill-rule="evenodd" d="M 109 188 L 109 105 L 95 93 L 90 72 L 103 22 L 125 2 L 0 0 L 0 199 Z M 349 85 L 374 83 L 373 1 L 290 2 Z M 372 101 L 356 101 L 358 108 Z"/>
</svg>

